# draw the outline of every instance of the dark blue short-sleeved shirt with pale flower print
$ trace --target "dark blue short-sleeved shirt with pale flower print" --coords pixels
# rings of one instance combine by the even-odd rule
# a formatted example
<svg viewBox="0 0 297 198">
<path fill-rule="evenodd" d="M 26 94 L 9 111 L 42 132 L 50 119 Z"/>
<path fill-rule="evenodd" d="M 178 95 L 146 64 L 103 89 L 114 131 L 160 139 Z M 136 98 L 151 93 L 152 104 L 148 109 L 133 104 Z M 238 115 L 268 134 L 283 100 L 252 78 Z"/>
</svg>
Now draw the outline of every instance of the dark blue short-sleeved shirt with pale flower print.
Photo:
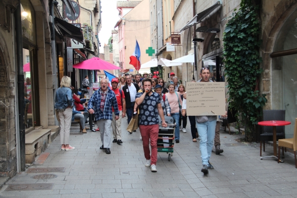
<svg viewBox="0 0 297 198">
<path fill-rule="evenodd" d="M 140 98 L 144 93 L 139 92 L 136 94 L 136 99 Z M 159 123 L 159 112 L 157 105 L 160 103 L 160 96 L 152 92 L 150 96 L 146 95 L 144 101 L 139 105 L 139 124 L 140 125 L 153 125 Z"/>
</svg>

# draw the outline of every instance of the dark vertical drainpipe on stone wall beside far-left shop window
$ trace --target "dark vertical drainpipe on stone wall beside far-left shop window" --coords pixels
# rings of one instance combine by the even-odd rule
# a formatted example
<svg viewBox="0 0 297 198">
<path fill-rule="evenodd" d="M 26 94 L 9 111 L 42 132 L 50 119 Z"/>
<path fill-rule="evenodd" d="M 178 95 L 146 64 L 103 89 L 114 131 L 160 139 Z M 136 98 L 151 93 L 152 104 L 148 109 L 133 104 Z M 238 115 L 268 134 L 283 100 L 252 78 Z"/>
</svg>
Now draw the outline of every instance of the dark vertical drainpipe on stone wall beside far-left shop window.
<svg viewBox="0 0 297 198">
<path fill-rule="evenodd" d="M 16 57 L 17 57 L 17 97 L 18 97 L 18 119 L 19 119 L 19 148 L 20 169 L 26 170 L 25 165 L 25 109 L 24 109 L 24 72 L 23 72 L 23 36 L 21 21 L 21 4 L 19 3 L 15 15 L 16 32 Z M 19 161 L 17 160 L 17 161 Z"/>
</svg>

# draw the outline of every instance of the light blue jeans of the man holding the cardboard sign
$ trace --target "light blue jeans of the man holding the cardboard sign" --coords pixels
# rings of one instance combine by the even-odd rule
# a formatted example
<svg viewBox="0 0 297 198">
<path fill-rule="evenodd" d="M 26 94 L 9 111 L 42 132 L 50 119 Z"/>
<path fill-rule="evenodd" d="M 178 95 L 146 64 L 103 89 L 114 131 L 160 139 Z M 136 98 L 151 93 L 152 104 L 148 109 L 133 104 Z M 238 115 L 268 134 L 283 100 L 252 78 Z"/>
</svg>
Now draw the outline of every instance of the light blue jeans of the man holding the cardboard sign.
<svg viewBox="0 0 297 198">
<path fill-rule="evenodd" d="M 201 159 L 203 165 L 208 165 L 208 161 L 211 155 L 211 149 L 213 147 L 214 142 L 215 125 L 216 120 L 206 121 L 202 123 L 196 122 L 196 127 L 200 138 L 199 149 L 201 152 Z"/>
</svg>

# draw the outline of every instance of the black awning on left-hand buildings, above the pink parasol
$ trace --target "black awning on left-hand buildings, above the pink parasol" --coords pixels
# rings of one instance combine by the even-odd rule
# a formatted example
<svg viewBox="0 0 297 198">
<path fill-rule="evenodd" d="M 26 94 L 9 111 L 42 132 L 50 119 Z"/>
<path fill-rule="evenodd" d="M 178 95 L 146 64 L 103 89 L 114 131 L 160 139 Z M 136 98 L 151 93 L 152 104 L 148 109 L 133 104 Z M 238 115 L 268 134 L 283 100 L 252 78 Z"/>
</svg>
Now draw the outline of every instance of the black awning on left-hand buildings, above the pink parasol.
<svg viewBox="0 0 297 198">
<path fill-rule="evenodd" d="M 67 23 L 66 21 L 59 19 L 57 17 L 54 18 L 54 22 L 59 28 L 60 32 L 63 36 L 72 38 L 84 45 L 86 45 L 83 31 L 72 25 L 71 23 Z"/>
</svg>

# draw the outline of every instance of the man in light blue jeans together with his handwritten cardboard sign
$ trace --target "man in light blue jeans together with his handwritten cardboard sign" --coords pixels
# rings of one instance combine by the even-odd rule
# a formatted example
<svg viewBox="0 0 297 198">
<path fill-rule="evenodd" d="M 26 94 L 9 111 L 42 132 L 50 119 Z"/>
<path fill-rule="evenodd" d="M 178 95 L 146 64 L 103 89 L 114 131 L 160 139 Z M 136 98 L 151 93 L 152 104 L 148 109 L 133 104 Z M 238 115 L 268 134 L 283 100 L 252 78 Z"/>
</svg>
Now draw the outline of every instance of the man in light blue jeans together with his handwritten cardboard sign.
<svg viewBox="0 0 297 198">
<path fill-rule="evenodd" d="M 224 86 L 218 83 L 212 85 L 213 82 L 209 79 L 210 72 L 208 67 L 201 68 L 200 77 L 201 79 L 198 82 L 201 82 L 201 84 L 198 86 L 195 84 L 193 84 L 193 86 L 187 86 L 187 98 L 189 100 L 187 114 L 195 115 L 196 117 L 196 128 L 198 129 L 200 138 L 199 148 L 203 166 L 201 172 L 206 174 L 208 173 L 208 169 L 213 169 L 213 166 L 209 163 L 209 158 L 214 143 L 217 113 L 225 111 L 225 92 Z M 209 82 L 211 82 L 211 85 Z M 223 98 L 223 100 L 220 98 Z M 223 103 L 221 101 L 223 101 Z M 186 100 L 184 100 L 182 107 L 183 114 L 185 114 L 186 105 Z M 217 112 L 215 112 L 216 110 Z M 222 115 L 222 117 L 226 117 L 226 115 Z"/>
</svg>

